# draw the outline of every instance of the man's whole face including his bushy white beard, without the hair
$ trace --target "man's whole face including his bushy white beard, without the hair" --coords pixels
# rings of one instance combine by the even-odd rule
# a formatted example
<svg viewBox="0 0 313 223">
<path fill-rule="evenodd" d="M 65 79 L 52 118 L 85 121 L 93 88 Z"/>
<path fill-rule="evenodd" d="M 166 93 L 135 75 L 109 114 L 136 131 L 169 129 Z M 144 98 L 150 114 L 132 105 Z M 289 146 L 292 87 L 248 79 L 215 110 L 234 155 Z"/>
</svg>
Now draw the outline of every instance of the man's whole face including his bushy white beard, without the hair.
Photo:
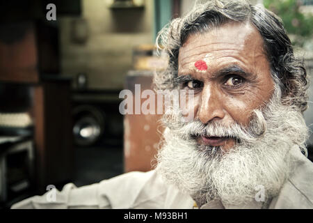
<svg viewBox="0 0 313 223">
<path fill-rule="evenodd" d="M 194 116 L 168 107 L 157 171 L 200 205 L 255 202 L 259 185 L 266 200 L 277 196 L 293 170 L 289 151 L 305 141 L 303 116 L 282 105 L 262 45 L 253 26 L 232 23 L 189 36 L 179 51 L 173 81 L 194 90 Z"/>
</svg>

